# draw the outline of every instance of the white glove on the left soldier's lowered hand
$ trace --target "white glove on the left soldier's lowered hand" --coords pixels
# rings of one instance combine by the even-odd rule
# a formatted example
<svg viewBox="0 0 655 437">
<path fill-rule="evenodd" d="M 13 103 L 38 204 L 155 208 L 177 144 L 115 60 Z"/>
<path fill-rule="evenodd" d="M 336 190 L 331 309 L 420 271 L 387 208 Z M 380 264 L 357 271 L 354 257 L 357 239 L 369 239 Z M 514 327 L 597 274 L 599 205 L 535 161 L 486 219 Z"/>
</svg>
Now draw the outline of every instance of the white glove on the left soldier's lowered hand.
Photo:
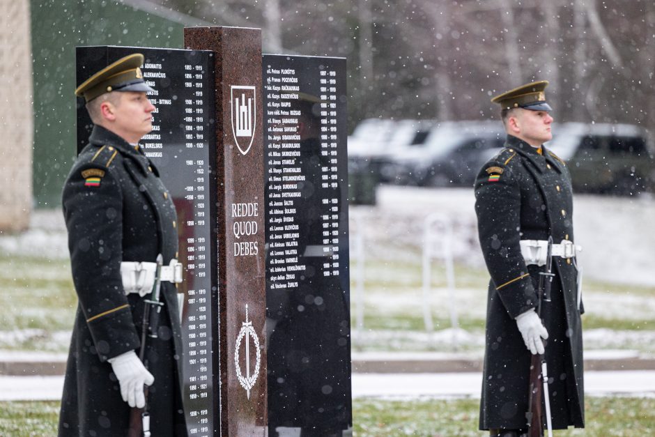
<svg viewBox="0 0 655 437">
<path fill-rule="evenodd" d="M 111 363 L 111 369 L 114 370 L 118 383 L 121 384 L 123 401 L 131 407 L 144 408 L 146 406 L 144 384 L 152 385 L 155 382 L 153 374 L 144 367 L 144 363 L 139 360 L 134 351 L 121 353 L 107 361 Z"/>
</svg>

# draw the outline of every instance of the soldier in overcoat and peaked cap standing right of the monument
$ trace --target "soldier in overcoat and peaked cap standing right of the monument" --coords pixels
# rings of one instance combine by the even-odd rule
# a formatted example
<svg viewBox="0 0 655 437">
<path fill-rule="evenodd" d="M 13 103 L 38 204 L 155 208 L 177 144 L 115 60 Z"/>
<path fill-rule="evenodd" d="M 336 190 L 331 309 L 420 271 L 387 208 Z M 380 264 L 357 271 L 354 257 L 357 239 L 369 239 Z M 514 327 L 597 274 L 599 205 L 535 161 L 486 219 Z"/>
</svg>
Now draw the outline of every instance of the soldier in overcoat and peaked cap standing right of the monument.
<svg viewBox="0 0 655 437">
<path fill-rule="evenodd" d="M 548 365 L 553 429 L 585 424 L 579 247 L 567 165 L 544 146 L 553 121 L 547 85 L 533 82 L 492 99 L 501 106 L 507 141 L 475 181 L 479 240 L 491 275 L 479 427 L 491 436 L 527 432 L 530 362 L 537 353 Z M 541 301 L 538 315 L 549 237 L 555 276 L 550 302 Z"/>
</svg>

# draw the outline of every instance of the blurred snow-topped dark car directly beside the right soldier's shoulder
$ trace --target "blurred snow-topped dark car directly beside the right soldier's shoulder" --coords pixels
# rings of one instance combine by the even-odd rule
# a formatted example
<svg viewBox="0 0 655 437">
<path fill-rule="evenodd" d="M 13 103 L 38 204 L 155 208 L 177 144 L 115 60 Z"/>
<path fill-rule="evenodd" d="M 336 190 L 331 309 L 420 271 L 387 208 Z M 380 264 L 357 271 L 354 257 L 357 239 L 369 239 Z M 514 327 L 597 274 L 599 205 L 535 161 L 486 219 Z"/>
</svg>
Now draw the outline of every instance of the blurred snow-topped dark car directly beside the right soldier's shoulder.
<svg viewBox="0 0 655 437">
<path fill-rule="evenodd" d="M 420 146 L 396 152 L 394 181 L 419 186 L 472 186 L 481 165 L 502 148 L 498 121 L 452 121 L 435 125 Z M 383 169 L 383 171 L 385 171 Z"/>
</svg>

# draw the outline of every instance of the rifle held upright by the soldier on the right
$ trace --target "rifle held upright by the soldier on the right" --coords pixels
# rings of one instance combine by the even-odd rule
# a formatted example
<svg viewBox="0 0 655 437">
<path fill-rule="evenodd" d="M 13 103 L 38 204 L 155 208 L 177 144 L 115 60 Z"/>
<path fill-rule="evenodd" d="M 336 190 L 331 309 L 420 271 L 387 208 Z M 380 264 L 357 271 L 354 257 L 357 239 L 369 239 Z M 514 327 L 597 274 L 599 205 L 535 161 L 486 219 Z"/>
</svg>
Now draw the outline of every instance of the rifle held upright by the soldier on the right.
<svg viewBox="0 0 655 437">
<path fill-rule="evenodd" d="M 550 286 L 553 283 L 553 237 L 548 237 L 548 251 L 546 252 L 546 268 L 539 272 L 539 289 L 537 290 L 537 315 L 541 317 L 541 303 L 550 302 Z M 541 378 L 541 384 L 539 379 Z M 541 397 L 544 397 L 546 406 L 546 427 L 548 437 L 553 437 L 553 424 L 550 420 L 550 396 L 548 395 L 548 365 L 546 358 L 539 353 L 530 358 L 530 392 L 528 393 L 527 435 L 529 437 L 544 436 L 544 412 L 541 410 Z"/>
</svg>

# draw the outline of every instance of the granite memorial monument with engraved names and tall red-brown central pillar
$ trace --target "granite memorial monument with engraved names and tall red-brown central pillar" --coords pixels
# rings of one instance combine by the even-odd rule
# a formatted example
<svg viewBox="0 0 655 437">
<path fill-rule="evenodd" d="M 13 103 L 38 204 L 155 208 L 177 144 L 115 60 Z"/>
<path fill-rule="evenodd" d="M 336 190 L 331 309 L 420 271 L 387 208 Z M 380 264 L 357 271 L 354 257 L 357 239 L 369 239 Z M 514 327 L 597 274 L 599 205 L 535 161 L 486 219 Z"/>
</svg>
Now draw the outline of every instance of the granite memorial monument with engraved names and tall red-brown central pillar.
<svg viewBox="0 0 655 437">
<path fill-rule="evenodd" d="M 78 47 L 77 75 L 145 56 L 157 110 L 141 147 L 174 197 L 185 267 L 189 435 L 341 435 L 352 424 L 345 60 L 262 56 L 259 29 L 184 38 L 185 49 Z M 78 150 L 87 117 L 80 106 Z"/>
</svg>

